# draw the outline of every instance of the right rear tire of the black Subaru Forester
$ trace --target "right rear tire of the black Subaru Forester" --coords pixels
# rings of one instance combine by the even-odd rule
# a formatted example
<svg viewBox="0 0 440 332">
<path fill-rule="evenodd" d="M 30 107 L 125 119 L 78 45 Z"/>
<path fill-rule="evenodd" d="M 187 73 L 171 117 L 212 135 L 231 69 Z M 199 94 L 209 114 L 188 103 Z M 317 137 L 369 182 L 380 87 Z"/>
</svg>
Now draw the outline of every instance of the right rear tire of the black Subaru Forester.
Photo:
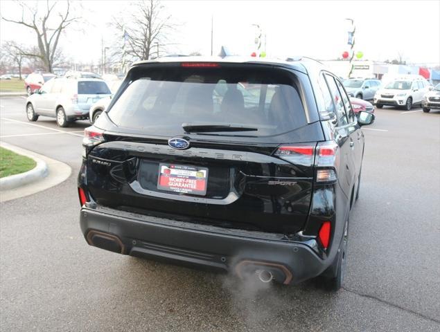
<svg viewBox="0 0 440 332">
<path fill-rule="evenodd" d="M 324 288 L 326 288 L 327 291 L 333 291 L 333 292 L 339 291 L 339 289 L 342 287 L 342 283 L 344 282 L 348 241 L 349 241 L 349 219 L 347 219 L 345 222 L 344 234 L 342 237 L 340 248 L 337 250 L 335 261 L 333 261 L 330 268 L 328 268 L 330 270 L 333 270 L 333 275 L 323 276 Z"/>
</svg>

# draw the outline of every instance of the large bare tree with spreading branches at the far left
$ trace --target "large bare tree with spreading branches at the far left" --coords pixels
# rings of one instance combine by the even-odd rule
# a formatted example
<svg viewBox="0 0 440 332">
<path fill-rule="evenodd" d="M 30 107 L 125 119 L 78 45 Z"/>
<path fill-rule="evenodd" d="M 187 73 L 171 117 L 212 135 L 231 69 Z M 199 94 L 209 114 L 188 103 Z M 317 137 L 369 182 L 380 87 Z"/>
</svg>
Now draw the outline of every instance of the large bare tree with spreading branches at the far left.
<svg viewBox="0 0 440 332">
<path fill-rule="evenodd" d="M 21 6 L 21 19 L 7 19 L 6 17 L 2 17 L 2 19 L 26 26 L 35 32 L 37 36 L 37 52 L 22 50 L 21 54 L 41 59 L 46 70 L 52 72 L 53 64 L 58 55 L 60 35 L 70 24 L 78 21 L 78 17 L 71 17 L 69 0 L 67 2 L 63 1 L 63 3 L 67 3 L 63 10 L 55 10 L 59 3 L 58 1 L 51 3 L 49 0 L 46 0 L 45 10 L 42 14 L 38 11 L 38 3 L 35 8 L 28 6 L 28 3 L 24 1 L 17 1 L 17 3 Z"/>
</svg>

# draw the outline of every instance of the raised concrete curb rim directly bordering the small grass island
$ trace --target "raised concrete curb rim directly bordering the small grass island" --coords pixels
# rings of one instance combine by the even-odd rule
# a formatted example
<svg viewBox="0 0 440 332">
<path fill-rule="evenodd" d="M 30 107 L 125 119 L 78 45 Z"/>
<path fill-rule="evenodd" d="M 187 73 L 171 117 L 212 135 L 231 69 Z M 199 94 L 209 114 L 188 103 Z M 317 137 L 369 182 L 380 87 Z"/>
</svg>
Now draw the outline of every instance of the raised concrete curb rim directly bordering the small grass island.
<svg viewBox="0 0 440 332">
<path fill-rule="evenodd" d="M 42 178 L 46 177 L 49 174 L 49 169 L 47 167 L 47 164 L 44 163 L 43 160 L 39 158 L 35 158 L 35 156 L 30 156 L 26 154 L 26 151 L 24 151 L 23 149 L 19 149 L 19 148 L 17 149 L 13 145 L 0 142 L 0 146 L 12 152 L 15 152 L 16 154 L 19 154 L 21 156 L 26 156 L 28 158 L 31 158 L 35 161 L 35 163 L 37 163 L 37 166 L 35 166 L 33 169 L 30 169 L 30 171 L 28 172 L 6 176 L 6 178 L 0 178 L 1 191 L 11 190 L 20 187 L 21 185 L 27 185 L 28 183 L 33 183 L 35 181 L 41 180 Z"/>
</svg>

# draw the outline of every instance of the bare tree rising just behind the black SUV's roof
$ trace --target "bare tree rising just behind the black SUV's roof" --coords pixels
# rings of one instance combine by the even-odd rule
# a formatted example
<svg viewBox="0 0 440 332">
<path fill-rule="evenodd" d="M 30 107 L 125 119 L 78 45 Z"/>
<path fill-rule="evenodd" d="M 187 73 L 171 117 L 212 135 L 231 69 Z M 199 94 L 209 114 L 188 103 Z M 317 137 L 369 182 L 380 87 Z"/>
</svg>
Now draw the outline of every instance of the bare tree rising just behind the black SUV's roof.
<svg viewBox="0 0 440 332">
<path fill-rule="evenodd" d="M 114 18 L 114 26 L 125 40 L 125 55 L 148 60 L 153 53 L 159 53 L 159 47 L 164 48 L 168 44 L 168 33 L 174 26 L 170 22 L 171 16 L 165 15 L 164 11 L 159 0 L 141 0 L 134 5 L 129 21 Z"/>
</svg>

